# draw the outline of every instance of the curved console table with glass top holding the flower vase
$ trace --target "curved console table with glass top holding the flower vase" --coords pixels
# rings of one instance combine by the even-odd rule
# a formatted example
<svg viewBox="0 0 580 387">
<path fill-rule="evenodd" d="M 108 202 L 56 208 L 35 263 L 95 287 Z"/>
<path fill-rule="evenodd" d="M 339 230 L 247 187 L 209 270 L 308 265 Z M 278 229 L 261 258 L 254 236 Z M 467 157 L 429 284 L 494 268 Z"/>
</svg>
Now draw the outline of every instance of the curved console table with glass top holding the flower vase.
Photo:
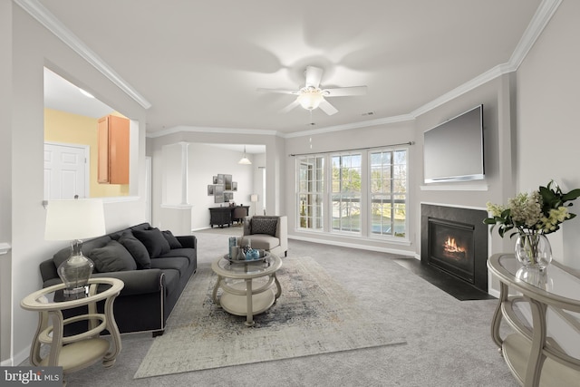
<svg viewBox="0 0 580 387">
<path fill-rule="evenodd" d="M 580 276 L 557 262 L 544 271 L 525 268 L 507 254 L 491 256 L 488 268 L 501 286 L 491 335 L 517 381 L 534 387 L 579 385 L 580 355 L 566 353 L 566 345 L 548 333 L 550 327 L 561 333 L 552 325 L 560 322 L 572 332 L 566 344 L 577 343 L 573 340 L 580 337 Z M 531 325 L 523 311 L 531 313 Z M 502 320 L 516 332 L 502 338 Z"/>
</svg>

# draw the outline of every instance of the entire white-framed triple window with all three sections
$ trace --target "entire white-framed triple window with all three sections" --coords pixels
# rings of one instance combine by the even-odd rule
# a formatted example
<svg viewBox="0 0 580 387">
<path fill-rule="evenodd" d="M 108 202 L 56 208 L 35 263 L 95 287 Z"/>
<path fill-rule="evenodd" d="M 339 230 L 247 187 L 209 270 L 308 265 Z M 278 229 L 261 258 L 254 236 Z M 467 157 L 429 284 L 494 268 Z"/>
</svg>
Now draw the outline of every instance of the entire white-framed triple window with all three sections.
<svg viewBox="0 0 580 387">
<path fill-rule="evenodd" d="M 408 153 L 374 148 L 297 157 L 296 227 L 406 240 Z"/>
</svg>

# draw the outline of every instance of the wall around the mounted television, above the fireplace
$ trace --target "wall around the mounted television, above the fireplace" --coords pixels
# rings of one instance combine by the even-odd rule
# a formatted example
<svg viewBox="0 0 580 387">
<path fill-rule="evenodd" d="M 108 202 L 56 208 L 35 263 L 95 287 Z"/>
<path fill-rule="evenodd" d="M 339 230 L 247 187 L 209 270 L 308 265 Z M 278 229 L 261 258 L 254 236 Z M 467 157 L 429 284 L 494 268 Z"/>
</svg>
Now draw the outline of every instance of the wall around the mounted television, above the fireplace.
<svg viewBox="0 0 580 387">
<path fill-rule="evenodd" d="M 512 106 L 514 97 L 513 78 L 513 73 L 502 75 L 417 118 L 415 121 L 415 131 L 417 132 L 417 151 L 415 152 L 417 159 L 415 165 L 419 170 L 416 171 L 414 179 L 412 179 L 414 189 L 417 192 L 414 203 L 416 208 L 419 208 L 421 202 L 427 202 L 485 210 L 488 201 L 505 203 L 507 198 L 514 196 L 514 160 L 512 160 L 511 156 L 513 149 L 511 140 L 515 131 L 514 126 L 511 124 L 511 116 L 514 114 Z M 485 179 L 424 184 L 422 174 L 423 132 L 480 103 L 483 104 Z M 415 216 L 420 215 L 417 212 Z M 419 218 L 416 224 L 420 224 Z M 418 255 L 420 255 L 419 231 L 417 230 L 417 237 L 415 238 L 415 251 Z M 513 241 L 510 241 L 509 238 L 502 239 L 498 237 L 498 233 L 493 233 L 491 238 L 492 243 L 491 251 L 488 251 L 489 255 L 513 248 Z"/>
</svg>

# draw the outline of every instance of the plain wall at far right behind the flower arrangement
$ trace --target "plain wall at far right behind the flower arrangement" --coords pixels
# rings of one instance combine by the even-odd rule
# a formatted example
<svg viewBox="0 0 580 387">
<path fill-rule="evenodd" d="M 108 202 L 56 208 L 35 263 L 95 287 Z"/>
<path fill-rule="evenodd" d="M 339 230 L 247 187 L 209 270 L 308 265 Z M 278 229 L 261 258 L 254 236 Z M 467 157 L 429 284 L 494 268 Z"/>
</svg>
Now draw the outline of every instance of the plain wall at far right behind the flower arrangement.
<svg viewBox="0 0 580 387">
<path fill-rule="evenodd" d="M 517 186 L 580 188 L 580 2 L 564 1 L 517 70 Z M 578 200 L 576 200 L 578 201 Z M 580 215 L 580 203 L 572 212 Z M 580 217 L 550 235 L 556 260 L 580 268 Z"/>
</svg>

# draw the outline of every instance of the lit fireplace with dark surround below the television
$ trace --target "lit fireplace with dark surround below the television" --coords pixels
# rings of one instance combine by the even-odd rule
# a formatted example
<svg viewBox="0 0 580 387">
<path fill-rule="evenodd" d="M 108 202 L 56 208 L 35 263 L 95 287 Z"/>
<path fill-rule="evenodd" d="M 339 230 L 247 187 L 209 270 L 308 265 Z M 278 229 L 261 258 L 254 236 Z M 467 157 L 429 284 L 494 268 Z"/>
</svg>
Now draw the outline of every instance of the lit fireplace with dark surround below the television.
<svg viewBox="0 0 580 387">
<path fill-rule="evenodd" d="M 421 204 L 421 264 L 488 292 L 487 217 L 484 210 Z"/>
</svg>

